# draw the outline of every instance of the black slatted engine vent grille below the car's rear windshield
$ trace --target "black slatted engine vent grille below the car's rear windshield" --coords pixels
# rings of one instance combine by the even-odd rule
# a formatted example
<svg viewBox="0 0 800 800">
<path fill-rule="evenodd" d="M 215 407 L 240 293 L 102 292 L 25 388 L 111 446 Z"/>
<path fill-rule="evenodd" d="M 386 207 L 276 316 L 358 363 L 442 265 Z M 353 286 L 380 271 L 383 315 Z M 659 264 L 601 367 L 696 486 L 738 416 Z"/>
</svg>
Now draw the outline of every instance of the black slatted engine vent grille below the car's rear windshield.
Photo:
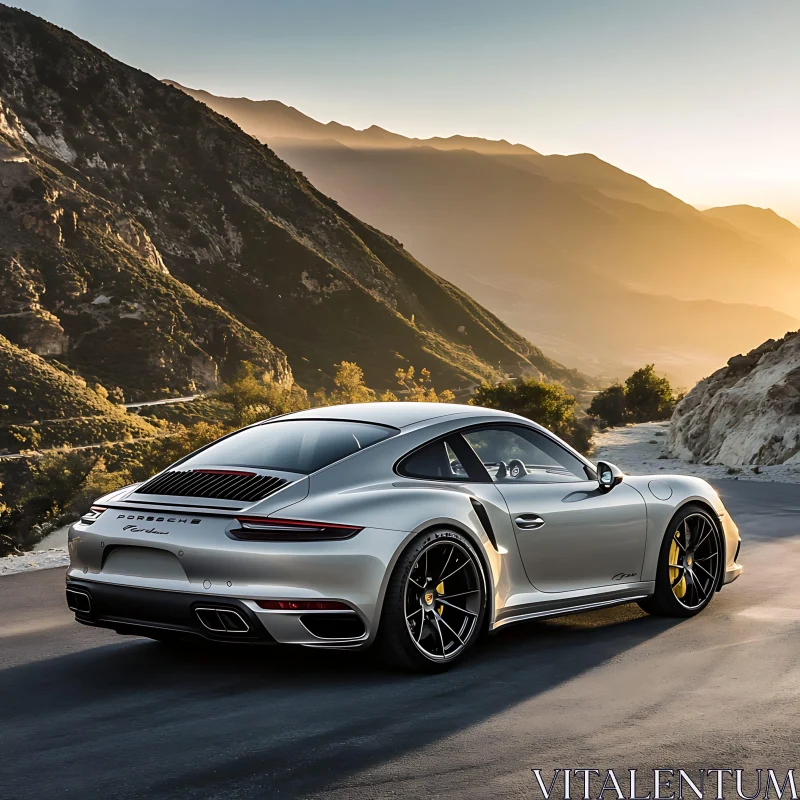
<svg viewBox="0 0 800 800">
<path fill-rule="evenodd" d="M 277 492 L 287 483 L 289 481 L 284 478 L 244 470 L 172 470 L 149 480 L 136 490 L 136 494 L 254 502 Z"/>
</svg>

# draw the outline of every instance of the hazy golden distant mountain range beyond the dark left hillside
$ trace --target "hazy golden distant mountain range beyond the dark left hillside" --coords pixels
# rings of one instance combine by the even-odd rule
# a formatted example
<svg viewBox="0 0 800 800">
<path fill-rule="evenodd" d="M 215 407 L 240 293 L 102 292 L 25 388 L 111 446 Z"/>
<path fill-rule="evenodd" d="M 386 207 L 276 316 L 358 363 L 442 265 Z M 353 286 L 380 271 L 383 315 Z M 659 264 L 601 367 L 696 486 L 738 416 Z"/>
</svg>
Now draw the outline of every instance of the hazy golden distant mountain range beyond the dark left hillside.
<svg viewBox="0 0 800 800">
<path fill-rule="evenodd" d="M 580 369 L 623 376 L 655 361 L 693 383 L 732 348 L 800 326 L 800 260 L 593 155 L 397 134 L 380 146 L 277 101 L 183 90 Z M 291 130 L 289 111 L 302 122 Z"/>
</svg>

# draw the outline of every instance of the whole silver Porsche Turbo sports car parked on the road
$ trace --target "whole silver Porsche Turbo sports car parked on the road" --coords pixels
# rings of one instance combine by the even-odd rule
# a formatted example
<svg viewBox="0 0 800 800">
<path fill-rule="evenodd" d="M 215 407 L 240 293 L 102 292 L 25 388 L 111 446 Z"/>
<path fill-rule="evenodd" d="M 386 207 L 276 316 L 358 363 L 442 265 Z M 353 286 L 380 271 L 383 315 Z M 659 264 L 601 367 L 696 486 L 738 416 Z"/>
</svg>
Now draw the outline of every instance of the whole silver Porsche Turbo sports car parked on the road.
<svg viewBox="0 0 800 800">
<path fill-rule="evenodd" d="M 623 475 L 502 411 L 370 403 L 251 425 L 101 498 L 66 591 L 123 634 L 376 645 L 439 671 L 521 620 L 697 614 L 739 544 L 699 478 Z"/>
</svg>

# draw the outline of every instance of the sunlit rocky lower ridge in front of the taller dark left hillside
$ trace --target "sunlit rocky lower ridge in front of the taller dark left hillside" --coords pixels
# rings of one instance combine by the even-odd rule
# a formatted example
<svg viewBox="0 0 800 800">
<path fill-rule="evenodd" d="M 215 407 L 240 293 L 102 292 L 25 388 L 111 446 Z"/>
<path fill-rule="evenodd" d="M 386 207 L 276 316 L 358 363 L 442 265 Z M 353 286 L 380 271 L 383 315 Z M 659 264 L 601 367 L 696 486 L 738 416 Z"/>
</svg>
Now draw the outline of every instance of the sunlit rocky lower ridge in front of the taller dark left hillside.
<svg viewBox="0 0 800 800">
<path fill-rule="evenodd" d="M 74 159 L 73 159 L 74 161 Z M 285 355 L 169 274 L 146 228 L 49 163 L 0 100 L 0 334 L 131 398 L 213 389 Z"/>
</svg>

